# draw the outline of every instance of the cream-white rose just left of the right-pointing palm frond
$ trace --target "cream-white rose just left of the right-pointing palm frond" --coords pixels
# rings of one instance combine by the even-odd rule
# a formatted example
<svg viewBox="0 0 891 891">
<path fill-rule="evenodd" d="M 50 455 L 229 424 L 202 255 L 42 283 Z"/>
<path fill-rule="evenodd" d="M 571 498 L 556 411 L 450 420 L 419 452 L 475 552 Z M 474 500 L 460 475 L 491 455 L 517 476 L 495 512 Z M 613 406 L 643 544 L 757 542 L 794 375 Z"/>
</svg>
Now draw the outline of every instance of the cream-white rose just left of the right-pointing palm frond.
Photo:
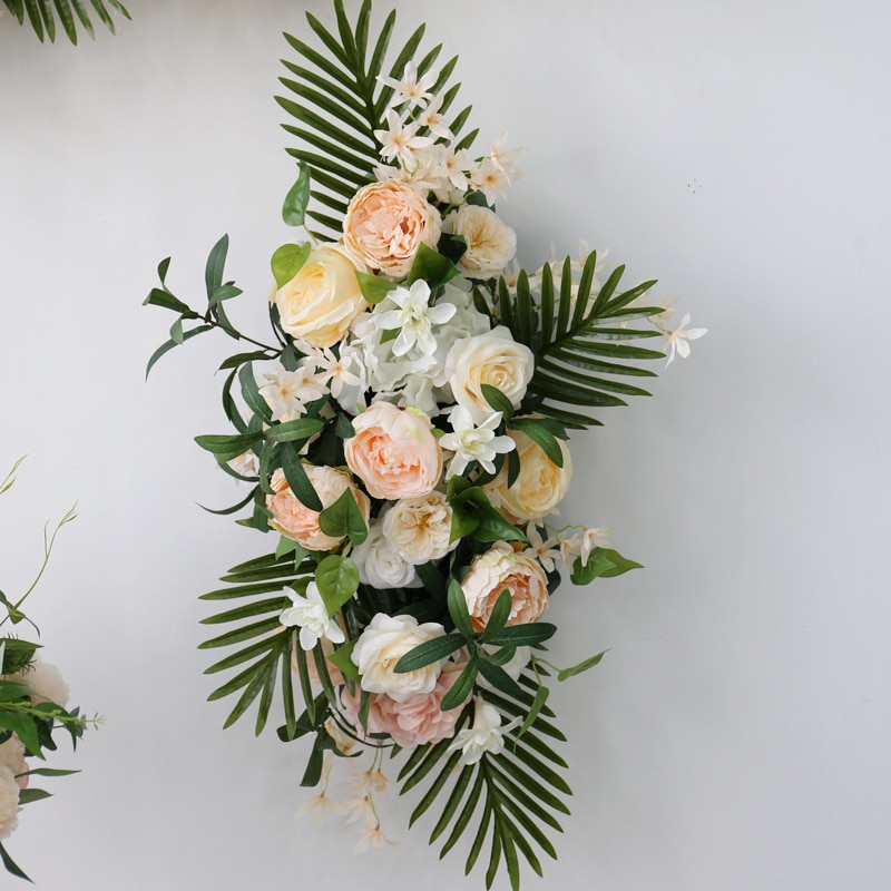
<svg viewBox="0 0 891 891">
<path fill-rule="evenodd" d="M 517 343 L 503 325 L 488 334 L 456 341 L 446 359 L 446 376 L 454 401 L 471 413 L 478 425 L 493 412 L 482 395 L 482 384 L 497 386 L 517 408 L 533 371 L 532 351 Z"/>
</svg>

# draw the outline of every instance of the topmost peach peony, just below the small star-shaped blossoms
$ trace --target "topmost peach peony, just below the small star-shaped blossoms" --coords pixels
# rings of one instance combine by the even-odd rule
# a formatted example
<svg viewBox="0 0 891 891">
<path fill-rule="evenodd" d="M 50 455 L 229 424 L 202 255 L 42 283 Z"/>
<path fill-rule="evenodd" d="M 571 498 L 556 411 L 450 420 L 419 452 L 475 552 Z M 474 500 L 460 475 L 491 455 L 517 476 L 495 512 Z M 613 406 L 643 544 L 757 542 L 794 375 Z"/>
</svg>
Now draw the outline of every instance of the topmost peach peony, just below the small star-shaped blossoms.
<svg viewBox="0 0 891 891">
<path fill-rule="evenodd" d="M 404 277 L 420 245 L 435 248 L 439 210 L 411 186 L 394 179 L 371 183 L 353 196 L 343 221 L 343 244 L 372 270 Z"/>
</svg>

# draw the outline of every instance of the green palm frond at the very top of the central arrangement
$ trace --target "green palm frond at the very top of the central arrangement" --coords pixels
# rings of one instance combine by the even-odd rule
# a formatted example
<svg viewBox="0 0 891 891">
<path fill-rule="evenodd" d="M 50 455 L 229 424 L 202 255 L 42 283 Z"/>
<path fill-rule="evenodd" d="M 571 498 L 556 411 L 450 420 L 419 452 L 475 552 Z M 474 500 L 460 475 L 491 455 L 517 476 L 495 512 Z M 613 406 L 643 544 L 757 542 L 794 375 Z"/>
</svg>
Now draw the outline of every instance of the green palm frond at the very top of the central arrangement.
<svg viewBox="0 0 891 891">
<path fill-rule="evenodd" d="M 392 87 L 381 84 L 378 78 L 382 75 L 401 78 L 424 35 L 424 26 L 421 26 L 388 66 L 395 10 L 386 17 L 373 40 L 370 37 L 371 0 L 362 3 L 355 25 L 347 20 L 342 0 L 335 0 L 334 10 L 336 35 L 315 16 L 306 13 L 310 28 L 330 56 L 285 35 L 301 60 L 282 60 L 290 76 L 280 79 L 294 98 L 275 97 L 296 120 L 295 124 L 282 125 L 301 140 L 298 147 L 288 148 L 287 153 L 310 167 L 315 207 L 306 216 L 319 228 L 313 234 L 325 239 L 340 237 L 350 198 L 363 185 L 374 180 L 373 172 L 381 151 L 381 141 L 374 131 L 386 128 L 386 109 L 393 97 Z M 434 47 L 417 63 L 419 78 L 433 69 L 441 50 L 442 45 Z M 432 92 L 443 97 L 441 114 L 448 114 L 458 95 L 460 85 L 447 86 L 457 61 L 458 57 L 447 61 L 431 87 Z M 470 107 L 467 107 L 454 117 L 452 133 L 460 133 L 469 114 Z M 469 145 L 474 135 L 468 134 L 461 145 Z"/>
</svg>

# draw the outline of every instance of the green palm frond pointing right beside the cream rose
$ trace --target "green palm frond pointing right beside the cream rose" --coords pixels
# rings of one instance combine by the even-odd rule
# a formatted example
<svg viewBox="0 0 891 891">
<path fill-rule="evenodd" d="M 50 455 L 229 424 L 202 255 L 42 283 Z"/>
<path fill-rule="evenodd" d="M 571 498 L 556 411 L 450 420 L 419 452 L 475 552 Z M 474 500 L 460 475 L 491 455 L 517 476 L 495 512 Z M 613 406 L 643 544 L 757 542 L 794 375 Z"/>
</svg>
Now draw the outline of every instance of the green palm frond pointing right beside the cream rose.
<svg viewBox="0 0 891 891">
<path fill-rule="evenodd" d="M 629 363 L 665 358 L 659 350 L 627 343 L 658 337 L 658 331 L 625 326 L 634 320 L 649 319 L 663 312 L 660 306 L 630 305 L 656 282 L 643 282 L 619 292 L 625 267 L 618 266 L 595 291 L 596 263 L 597 254 L 593 252 L 576 284 L 571 261 L 567 257 L 560 272 L 559 287 L 555 284 L 550 265 L 545 264 L 538 302 L 525 271 L 517 280 L 516 294 L 511 294 L 503 278 L 498 286 L 501 321 L 513 337 L 536 355 L 536 371 L 529 385 L 536 411 L 577 429 L 599 425 L 600 421 L 570 411 L 566 405 L 626 405 L 623 396 L 649 395 L 643 388 L 624 383 L 618 378 L 655 378 L 654 371 Z"/>
</svg>

